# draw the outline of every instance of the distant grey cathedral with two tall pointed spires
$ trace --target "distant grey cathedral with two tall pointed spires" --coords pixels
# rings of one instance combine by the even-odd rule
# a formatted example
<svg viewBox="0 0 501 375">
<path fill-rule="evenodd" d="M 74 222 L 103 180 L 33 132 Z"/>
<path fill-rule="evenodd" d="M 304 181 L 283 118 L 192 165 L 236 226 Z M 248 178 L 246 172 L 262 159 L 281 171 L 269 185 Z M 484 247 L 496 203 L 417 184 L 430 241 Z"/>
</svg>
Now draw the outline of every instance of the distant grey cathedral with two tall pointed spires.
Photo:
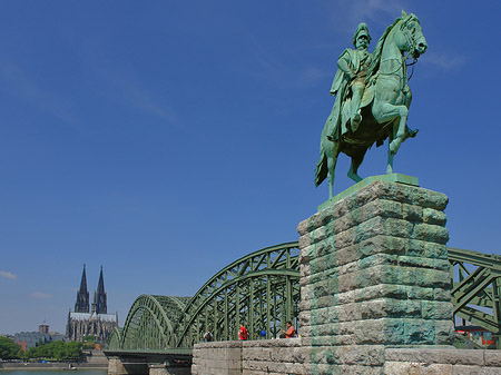
<svg viewBox="0 0 501 375">
<path fill-rule="evenodd" d="M 86 336 L 92 336 L 96 341 L 106 342 L 115 327 L 118 327 L 118 314 L 108 314 L 102 267 L 98 288 L 94 293 L 91 310 L 89 312 L 89 292 L 87 292 L 86 266 L 84 265 L 75 312 L 70 310 L 68 314 L 66 337 L 70 341 L 79 342 Z"/>
</svg>

